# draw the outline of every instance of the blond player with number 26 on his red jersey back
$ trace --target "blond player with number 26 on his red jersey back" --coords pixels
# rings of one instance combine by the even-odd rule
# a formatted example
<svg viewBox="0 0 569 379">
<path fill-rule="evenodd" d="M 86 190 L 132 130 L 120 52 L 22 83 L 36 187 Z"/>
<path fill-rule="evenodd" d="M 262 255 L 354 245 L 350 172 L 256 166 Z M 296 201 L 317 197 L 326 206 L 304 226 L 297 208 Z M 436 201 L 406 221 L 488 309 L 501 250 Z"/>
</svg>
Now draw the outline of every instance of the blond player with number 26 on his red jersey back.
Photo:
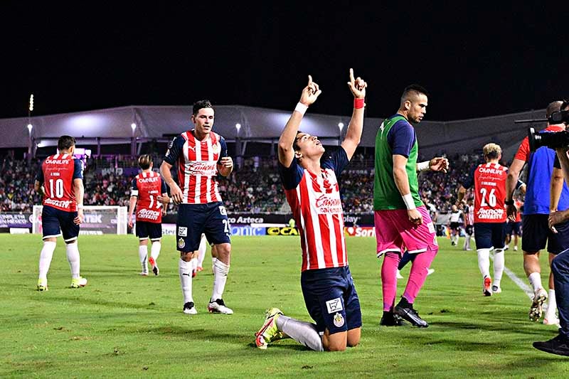
<svg viewBox="0 0 569 379">
<path fill-rule="evenodd" d="M 501 148 L 486 144 L 482 149 L 486 163 L 475 166 L 469 177 L 459 184 L 457 204 L 474 184 L 474 240 L 478 267 L 482 274 L 482 294 L 501 292 L 504 273 L 504 240 L 506 237 L 506 178 L 507 167 L 501 166 Z M 494 282 L 490 276 L 490 250 L 494 249 Z"/>
</svg>

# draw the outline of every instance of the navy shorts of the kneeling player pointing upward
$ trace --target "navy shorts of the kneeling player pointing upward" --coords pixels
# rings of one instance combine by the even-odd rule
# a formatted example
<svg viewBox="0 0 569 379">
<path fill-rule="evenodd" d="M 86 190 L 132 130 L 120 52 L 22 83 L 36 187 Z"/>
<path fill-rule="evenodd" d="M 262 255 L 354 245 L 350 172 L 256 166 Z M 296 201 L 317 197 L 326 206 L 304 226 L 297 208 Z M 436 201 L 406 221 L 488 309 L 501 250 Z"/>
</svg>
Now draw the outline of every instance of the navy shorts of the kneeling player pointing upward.
<svg viewBox="0 0 569 379">
<path fill-rule="evenodd" d="M 308 269 L 300 276 L 304 304 L 319 333 L 361 327 L 360 300 L 349 267 Z"/>
</svg>

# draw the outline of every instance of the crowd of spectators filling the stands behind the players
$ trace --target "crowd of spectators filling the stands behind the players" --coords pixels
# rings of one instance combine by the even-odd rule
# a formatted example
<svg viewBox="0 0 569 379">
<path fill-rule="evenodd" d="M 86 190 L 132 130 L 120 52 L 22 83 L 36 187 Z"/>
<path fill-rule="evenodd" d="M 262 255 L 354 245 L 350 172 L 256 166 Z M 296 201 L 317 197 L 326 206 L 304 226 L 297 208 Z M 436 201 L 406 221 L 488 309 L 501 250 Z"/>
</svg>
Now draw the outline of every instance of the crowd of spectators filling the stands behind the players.
<svg viewBox="0 0 569 379">
<path fill-rule="evenodd" d="M 450 211 L 456 198 L 459 181 L 467 176 L 472 166 L 480 163 L 475 154 L 449 157 L 451 168 L 447 174 L 425 171 L 419 176 L 420 193 L 429 199 L 439 213 Z M 359 161 L 366 161 L 363 157 Z M 112 159 L 111 159 L 112 161 Z M 116 159 L 114 160 L 116 161 Z M 121 160 L 124 161 L 124 160 Z M 97 162 L 97 164 L 94 164 Z M 135 165 L 136 161 L 129 161 Z M 372 161 L 373 162 L 373 161 Z M 6 156 L 1 161 L 0 204 L 3 212 L 29 212 L 41 198 L 33 191 L 33 183 L 41 161 L 27 161 Z M 156 158 L 154 168 L 159 167 Z M 98 166 L 98 167 L 97 167 Z M 85 169 L 85 205 L 128 205 L 133 176 L 121 171 L 101 171 L 102 161 L 87 161 Z M 103 174 L 105 172 L 105 174 Z M 174 174 L 176 178 L 176 174 Z M 373 166 L 353 169 L 351 166 L 339 178 L 345 213 L 373 213 Z M 219 189 L 230 213 L 279 213 L 286 204 L 277 171 L 277 159 L 258 157 L 236 161 L 229 178 L 220 177 Z M 169 210 L 174 210 L 169 205 Z"/>
</svg>

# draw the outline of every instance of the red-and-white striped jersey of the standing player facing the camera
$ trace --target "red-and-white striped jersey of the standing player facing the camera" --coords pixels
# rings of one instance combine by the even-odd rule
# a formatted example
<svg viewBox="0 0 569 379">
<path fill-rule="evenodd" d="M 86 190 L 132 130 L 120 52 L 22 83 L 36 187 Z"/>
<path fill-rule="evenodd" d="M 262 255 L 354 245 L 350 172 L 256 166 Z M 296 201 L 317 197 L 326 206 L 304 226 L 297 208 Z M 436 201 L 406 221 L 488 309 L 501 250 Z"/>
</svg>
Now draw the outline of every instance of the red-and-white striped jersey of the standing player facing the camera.
<svg viewBox="0 0 569 379">
<path fill-rule="evenodd" d="M 218 191 L 218 163 L 227 155 L 227 144 L 219 134 L 199 141 L 193 130 L 184 132 L 171 142 L 164 161 L 178 168 L 178 184 L 184 204 L 206 204 L 221 201 Z"/>
</svg>

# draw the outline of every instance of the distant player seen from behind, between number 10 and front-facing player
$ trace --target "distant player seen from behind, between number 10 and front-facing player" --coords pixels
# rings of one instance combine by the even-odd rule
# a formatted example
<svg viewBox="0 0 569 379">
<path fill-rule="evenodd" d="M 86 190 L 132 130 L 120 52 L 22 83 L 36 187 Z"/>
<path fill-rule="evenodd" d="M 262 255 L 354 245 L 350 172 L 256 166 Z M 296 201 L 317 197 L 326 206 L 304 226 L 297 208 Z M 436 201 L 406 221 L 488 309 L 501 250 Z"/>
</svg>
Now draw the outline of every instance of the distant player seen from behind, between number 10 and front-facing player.
<svg viewBox="0 0 569 379">
<path fill-rule="evenodd" d="M 129 201 L 129 227 L 132 228 L 132 215 L 137 209 L 137 237 L 139 238 L 138 255 L 142 266 L 141 275 L 148 275 L 148 263 L 154 275 L 159 274 L 156 260 L 160 255 L 162 239 L 162 215 L 166 215 L 166 207 L 162 201 L 168 203 L 166 183 L 160 174 L 152 171 L 152 158 L 148 154 L 139 157 L 138 165 L 142 172 L 132 179 L 132 188 Z M 148 257 L 148 240 L 152 247 Z"/>
</svg>

